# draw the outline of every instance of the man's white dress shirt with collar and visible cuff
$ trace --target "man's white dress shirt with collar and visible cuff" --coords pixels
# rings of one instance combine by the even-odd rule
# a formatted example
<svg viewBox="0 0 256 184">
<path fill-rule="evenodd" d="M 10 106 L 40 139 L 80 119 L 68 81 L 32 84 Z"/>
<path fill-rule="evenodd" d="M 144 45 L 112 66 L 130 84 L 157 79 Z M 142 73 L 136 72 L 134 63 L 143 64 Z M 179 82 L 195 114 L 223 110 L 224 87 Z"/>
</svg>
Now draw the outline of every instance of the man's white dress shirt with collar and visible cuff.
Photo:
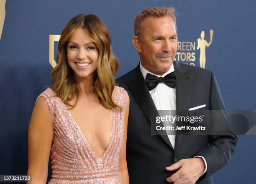
<svg viewBox="0 0 256 184">
<path fill-rule="evenodd" d="M 152 75 L 155 75 L 157 77 L 164 77 L 167 74 L 174 72 L 174 66 L 172 64 L 171 68 L 164 73 L 163 75 L 156 75 L 154 73 L 148 72 L 146 69 L 143 68 L 140 62 L 140 68 L 141 73 L 143 75 L 144 80 L 146 81 L 146 75 L 147 73 L 150 73 Z M 154 101 L 154 104 L 156 106 L 157 110 L 176 110 L 176 87 L 172 88 L 164 84 L 164 82 L 159 82 L 159 84 L 156 86 L 156 88 L 149 91 L 152 100 Z M 166 131 L 167 135 L 168 132 Z M 175 135 L 168 135 L 168 138 L 172 144 L 172 147 L 175 146 Z M 207 171 L 207 163 L 203 156 L 195 156 L 195 157 L 201 157 L 205 162 L 205 171 L 203 174 Z M 195 158 L 194 157 L 194 158 Z"/>
</svg>

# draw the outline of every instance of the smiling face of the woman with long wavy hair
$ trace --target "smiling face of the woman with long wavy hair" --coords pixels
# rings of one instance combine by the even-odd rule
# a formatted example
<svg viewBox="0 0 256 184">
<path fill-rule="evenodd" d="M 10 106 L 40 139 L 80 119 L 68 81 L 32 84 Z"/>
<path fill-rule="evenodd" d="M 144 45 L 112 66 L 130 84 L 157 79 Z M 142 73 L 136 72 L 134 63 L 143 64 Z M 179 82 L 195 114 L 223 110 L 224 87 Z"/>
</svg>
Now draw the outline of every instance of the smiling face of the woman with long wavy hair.
<svg viewBox="0 0 256 184">
<path fill-rule="evenodd" d="M 98 59 L 96 45 L 82 28 L 77 28 L 67 44 L 67 59 L 75 79 L 93 77 Z"/>
</svg>

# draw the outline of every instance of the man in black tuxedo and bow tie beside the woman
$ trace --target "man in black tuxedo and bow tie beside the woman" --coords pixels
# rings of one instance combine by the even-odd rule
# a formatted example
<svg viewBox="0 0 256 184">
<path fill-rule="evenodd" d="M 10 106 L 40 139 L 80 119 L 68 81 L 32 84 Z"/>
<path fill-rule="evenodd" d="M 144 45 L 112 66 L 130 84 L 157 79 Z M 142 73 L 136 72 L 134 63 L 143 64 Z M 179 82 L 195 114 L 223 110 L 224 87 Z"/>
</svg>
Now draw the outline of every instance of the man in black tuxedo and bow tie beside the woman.
<svg viewBox="0 0 256 184">
<path fill-rule="evenodd" d="M 141 61 L 117 79 L 130 96 L 126 157 L 131 184 L 212 184 L 211 174 L 228 164 L 236 148 L 236 136 L 228 133 L 151 135 L 151 110 L 225 109 L 212 72 L 174 61 L 176 30 L 174 8 L 143 10 L 133 36 Z"/>
</svg>

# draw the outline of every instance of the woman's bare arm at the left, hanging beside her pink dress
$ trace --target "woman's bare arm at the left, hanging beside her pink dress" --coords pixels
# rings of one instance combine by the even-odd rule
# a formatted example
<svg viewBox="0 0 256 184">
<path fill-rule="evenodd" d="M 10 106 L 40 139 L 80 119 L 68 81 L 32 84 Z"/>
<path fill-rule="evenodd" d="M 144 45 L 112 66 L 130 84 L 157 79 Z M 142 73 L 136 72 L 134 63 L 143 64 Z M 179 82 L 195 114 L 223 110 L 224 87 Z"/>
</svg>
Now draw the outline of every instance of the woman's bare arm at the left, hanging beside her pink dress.
<svg viewBox="0 0 256 184">
<path fill-rule="evenodd" d="M 28 128 L 28 184 L 46 184 L 54 129 L 44 97 L 39 97 Z"/>
</svg>

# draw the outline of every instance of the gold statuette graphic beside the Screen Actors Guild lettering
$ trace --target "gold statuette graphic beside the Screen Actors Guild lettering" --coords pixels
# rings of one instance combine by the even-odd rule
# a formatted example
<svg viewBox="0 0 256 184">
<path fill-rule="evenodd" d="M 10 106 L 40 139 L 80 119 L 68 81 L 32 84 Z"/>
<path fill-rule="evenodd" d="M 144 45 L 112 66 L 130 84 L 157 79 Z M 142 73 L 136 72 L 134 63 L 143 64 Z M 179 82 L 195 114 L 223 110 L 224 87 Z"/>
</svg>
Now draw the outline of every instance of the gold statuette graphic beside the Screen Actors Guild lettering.
<svg viewBox="0 0 256 184">
<path fill-rule="evenodd" d="M 212 43 L 212 36 L 213 36 L 213 30 L 210 30 L 210 42 L 208 43 L 205 38 L 205 31 L 201 32 L 201 38 L 197 39 L 197 50 L 200 49 L 200 67 L 205 68 L 206 63 L 206 53 L 205 53 L 205 47 L 210 46 Z"/>
</svg>

